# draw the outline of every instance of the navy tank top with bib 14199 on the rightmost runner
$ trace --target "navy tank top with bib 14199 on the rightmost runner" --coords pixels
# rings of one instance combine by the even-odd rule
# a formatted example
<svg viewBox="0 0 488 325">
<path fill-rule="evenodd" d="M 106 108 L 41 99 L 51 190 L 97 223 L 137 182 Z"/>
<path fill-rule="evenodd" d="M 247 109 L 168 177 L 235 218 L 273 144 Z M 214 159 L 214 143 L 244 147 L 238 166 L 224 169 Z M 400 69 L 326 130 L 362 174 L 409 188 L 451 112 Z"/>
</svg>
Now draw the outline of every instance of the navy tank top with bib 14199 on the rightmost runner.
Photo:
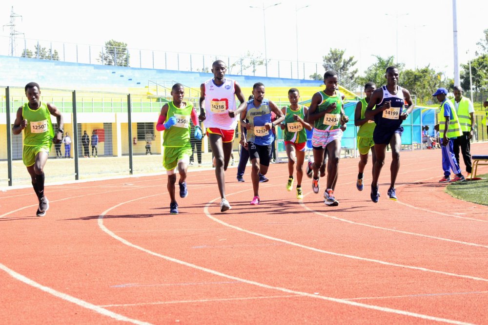
<svg viewBox="0 0 488 325">
<path fill-rule="evenodd" d="M 376 105 L 376 108 L 381 108 L 386 101 L 391 101 L 391 104 L 389 109 L 374 115 L 374 122 L 376 123 L 377 128 L 398 129 L 403 122 L 403 120 L 400 119 L 400 115 L 402 114 L 405 99 L 403 97 L 402 88 L 400 86 L 397 87 L 398 92 L 396 95 L 390 94 L 386 89 L 386 86 L 382 87 L 383 99 Z"/>
</svg>

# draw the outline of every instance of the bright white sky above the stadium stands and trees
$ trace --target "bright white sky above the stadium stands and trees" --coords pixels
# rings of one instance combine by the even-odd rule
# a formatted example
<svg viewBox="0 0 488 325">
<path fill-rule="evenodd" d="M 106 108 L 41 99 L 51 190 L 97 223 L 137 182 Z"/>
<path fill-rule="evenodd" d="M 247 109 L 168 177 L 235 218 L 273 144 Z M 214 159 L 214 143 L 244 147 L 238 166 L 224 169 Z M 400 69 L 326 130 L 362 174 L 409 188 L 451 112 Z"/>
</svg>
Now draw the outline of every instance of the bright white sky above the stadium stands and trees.
<svg viewBox="0 0 488 325">
<path fill-rule="evenodd" d="M 306 65 L 308 76 L 316 62 L 318 72 L 323 73 L 322 57 L 330 48 L 338 48 L 346 51 L 346 57 L 358 60 L 360 72 L 376 61 L 374 56 L 397 57 L 397 53 L 398 62 L 407 69 L 430 65 L 451 78 L 454 71 L 452 0 L 3 0 L 1 25 L 10 24 L 12 6 L 22 16 L 16 19 L 15 28 L 24 33 L 16 40 L 20 51 L 25 37 L 31 43 L 40 40 L 48 48 L 53 41 L 60 53 L 62 43 L 68 49 L 80 44 L 83 53 L 88 51 L 86 44 L 91 44 L 89 51 L 96 57 L 92 53 L 97 52 L 96 46 L 116 39 L 127 43 L 131 60 L 144 61 L 144 65 L 151 60 L 147 57 L 151 51 L 146 50 L 194 53 L 193 69 L 202 65 L 203 56 L 197 54 L 228 62 L 227 56 L 250 51 L 271 59 L 270 73 L 276 73 L 280 60 L 282 75 L 291 71 L 296 76 L 298 48 L 300 62 L 313 62 Z M 488 29 L 487 13 L 488 1 L 457 0 L 460 63 L 474 57 L 476 42 Z M 9 27 L 4 26 L 0 55 L 10 54 L 9 35 Z M 145 53 L 144 58 L 138 52 Z M 181 60 L 187 61 L 188 56 Z M 303 63 L 299 66 L 302 70 Z"/>
</svg>

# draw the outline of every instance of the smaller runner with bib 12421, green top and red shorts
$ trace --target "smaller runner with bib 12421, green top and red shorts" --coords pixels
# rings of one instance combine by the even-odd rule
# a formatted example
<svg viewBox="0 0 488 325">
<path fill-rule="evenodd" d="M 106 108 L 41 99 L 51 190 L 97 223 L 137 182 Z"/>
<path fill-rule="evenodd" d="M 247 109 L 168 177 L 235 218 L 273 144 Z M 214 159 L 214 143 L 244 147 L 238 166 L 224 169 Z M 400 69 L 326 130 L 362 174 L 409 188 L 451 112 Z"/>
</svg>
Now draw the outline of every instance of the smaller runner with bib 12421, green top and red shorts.
<svg viewBox="0 0 488 325">
<path fill-rule="evenodd" d="M 306 130 L 311 131 L 312 126 L 304 121 L 308 107 L 299 105 L 300 92 L 296 88 L 288 90 L 290 105 L 282 109 L 285 114 L 285 122 L 281 123 L 281 129 L 285 130 L 285 148 L 288 156 L 288 182 L 286 190 L 293 188 L 293 169 L 297 164 L 297 199 L 304 198 L 302 191 L 303 165 L 305 160 Z"/>
</svg>

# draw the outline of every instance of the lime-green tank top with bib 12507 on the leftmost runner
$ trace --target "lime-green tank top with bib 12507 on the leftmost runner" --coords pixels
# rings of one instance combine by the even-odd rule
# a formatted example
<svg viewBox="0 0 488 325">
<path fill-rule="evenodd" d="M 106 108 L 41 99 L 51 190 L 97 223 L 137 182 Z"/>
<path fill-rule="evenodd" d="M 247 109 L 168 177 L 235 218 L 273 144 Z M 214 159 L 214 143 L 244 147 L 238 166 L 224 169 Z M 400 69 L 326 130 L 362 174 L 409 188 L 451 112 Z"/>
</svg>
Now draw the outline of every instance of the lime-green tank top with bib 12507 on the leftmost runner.
<svg viewBox="0 0 488 325">
<path fill-rule="evenodd" d="M 54 129 L 46 103 L 41 102 L 37 110 L 30 109 L 29 103 L 25 103 L 22 107 L 22 118 L 27 120 L 24 129 L 24 146 L 50 145 L 53 142 Z"/>
</svg>

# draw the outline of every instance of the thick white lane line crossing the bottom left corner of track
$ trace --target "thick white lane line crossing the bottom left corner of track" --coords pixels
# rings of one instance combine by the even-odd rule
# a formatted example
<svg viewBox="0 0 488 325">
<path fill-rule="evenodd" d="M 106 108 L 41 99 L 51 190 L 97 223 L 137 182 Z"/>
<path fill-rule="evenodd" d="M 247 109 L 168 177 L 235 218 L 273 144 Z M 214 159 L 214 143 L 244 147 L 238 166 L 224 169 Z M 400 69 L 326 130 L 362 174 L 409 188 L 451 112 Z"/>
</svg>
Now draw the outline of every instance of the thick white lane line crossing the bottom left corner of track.
<svg viewBox="0 0 488 325">
<path fill-rule="evenodd" d="M 125 317 L 121 314 L 117 314 L 113 311 L 110 311 L 108 309 L 105 309 L 101 306 L 96 306 L 96 305 L 93 305 L 93 304 L 90 304 L 84 300 L 81 300 L 81 299 L 78 299 L 78 298 L 75 298 L 73 296 L 70 296 L 66 293 L 62 293 L 62 292 L 59 292 L 53 288 L 50 288 L 50 287 L 46 287 L 46 286 L 43 286 L 37 282 L 35 282 L 34 280 L 31 280 L 25 276 L 23 276 L 22 274 L 19 274 L 17 273 L 16 271 L 10 269 L 10 268 L 7 268 L 6 266 L 4 266 L 3 264 L 0 263 L 0 269 L 5 271 L 7 274 L 9 274 L 11 277 L 13 277 L 14 279 L 16 280 L 19 280 L 23 283 L 25 283 L 26 285 L 29 285 L 31 287 L 35 287 L 37 289 L 40 289 L 44 292 L 47 292 L 53 296 L 56 296 L 58 298 L 61 298 L 62 300 L 65 300 L 65 301 L 68 301 L 70 303 L 73 303 L 73 304 L 76 304 L 78 306 L 81 306 L 83 308 L 86 308 L 86 309 L 90 309 L 90 310 L 93 310 L 99 314 L 102 314 L 104 316 L 108 316 L 110 318 L 113 318 L 113 319 L 116 319 L 117 321 L 121 321 L 121 322 L 128 322 L 128 323 L 132 323 L 132 324 L 138 324 L 138 325 L 148 325 L 150 323 L 146 323 L 146 322 L 141 322 L 137 319 L 132 319 L 132 318 L 128 318 L 128 317 Z"/>
</svg>

